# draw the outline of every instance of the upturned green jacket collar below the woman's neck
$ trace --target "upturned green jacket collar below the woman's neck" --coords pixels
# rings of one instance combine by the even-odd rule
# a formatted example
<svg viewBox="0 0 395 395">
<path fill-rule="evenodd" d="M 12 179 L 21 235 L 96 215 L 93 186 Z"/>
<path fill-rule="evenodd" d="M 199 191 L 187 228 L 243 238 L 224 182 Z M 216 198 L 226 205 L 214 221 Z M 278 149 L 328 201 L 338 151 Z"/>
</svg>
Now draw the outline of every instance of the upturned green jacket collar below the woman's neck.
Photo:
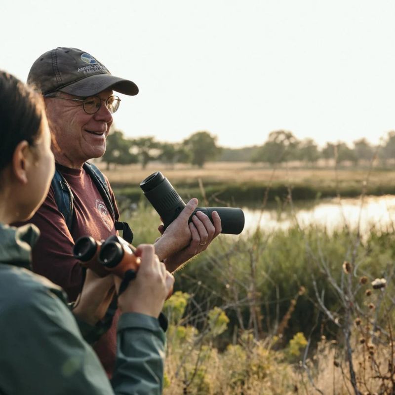
<svg viewBox="0 0 395 395">
<path fill-rule="evenodd" d="M 33 224 L 14 228 L 0 223 L 0 264 L 30 269 L 32 247 L 39 236 L 39 228 Z"/>
</svg>

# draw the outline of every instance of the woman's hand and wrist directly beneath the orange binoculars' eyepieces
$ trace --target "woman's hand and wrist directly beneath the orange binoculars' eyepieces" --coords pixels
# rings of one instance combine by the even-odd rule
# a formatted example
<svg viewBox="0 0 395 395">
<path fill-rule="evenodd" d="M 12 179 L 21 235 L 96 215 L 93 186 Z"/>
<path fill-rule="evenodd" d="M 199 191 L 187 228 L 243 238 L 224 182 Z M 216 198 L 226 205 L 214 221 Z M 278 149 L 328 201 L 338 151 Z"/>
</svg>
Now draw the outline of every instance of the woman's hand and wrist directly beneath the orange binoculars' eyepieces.
<svg viewBox="0 0 395 395">
<path fill-rule="evenodd" d="M 102 319 L 115 294 L 113 277 L 113 275 L 99 277 L 95 272 L 87 269 L 73 314 L 91 325 Z"/>
</svg>

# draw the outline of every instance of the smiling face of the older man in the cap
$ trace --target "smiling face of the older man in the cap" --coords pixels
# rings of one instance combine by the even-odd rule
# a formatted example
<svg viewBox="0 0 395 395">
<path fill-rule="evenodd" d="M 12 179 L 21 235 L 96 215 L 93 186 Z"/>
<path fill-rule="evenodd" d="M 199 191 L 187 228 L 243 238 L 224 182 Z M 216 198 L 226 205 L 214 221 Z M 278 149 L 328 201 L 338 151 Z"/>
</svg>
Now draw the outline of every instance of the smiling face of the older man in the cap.
<svg viewBox="0 0 395 395">
<path fill-rule="evenodd" d="M 96 96 L 107 99 L 112 93 L 112 90 L 104 90 Z M 59 97 L 81 99 L 63 92 Z M 55 138 L 53 151 L 57 162 L 80 168 L 85 160 L 103 156 L 113 123 L 105 102 L 101 102 L 95 114 L 86 114 L 82 102 L 78 101 L 46 98 L 45 105 L 49 127 Z"/>
</svg>

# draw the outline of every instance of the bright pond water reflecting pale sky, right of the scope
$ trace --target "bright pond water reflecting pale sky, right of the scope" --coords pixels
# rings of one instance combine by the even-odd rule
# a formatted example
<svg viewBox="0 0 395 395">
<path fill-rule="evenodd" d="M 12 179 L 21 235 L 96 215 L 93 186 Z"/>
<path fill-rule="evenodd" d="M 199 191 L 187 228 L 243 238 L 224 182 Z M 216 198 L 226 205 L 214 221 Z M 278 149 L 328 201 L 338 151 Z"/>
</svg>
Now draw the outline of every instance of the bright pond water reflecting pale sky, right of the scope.
<svg viewBox="0 0 395 395">
<path fill-rule="evenodd" d="M 366 196 L 363 201 L 360 198 L 322 199 L 285 207 L 270 205 L 262 212 L 243 207 L 243 211 L 246 230 L 255 229 L 258 224 L 269 232 L 285 230 L 296 224 L 302 229 L 316 225 L 328 232 L 344 226 L 356 230 L 359 226 L 361 234 L 366 235 L 372 228 L 394 230 L 395 196 Z"/>
</svg>

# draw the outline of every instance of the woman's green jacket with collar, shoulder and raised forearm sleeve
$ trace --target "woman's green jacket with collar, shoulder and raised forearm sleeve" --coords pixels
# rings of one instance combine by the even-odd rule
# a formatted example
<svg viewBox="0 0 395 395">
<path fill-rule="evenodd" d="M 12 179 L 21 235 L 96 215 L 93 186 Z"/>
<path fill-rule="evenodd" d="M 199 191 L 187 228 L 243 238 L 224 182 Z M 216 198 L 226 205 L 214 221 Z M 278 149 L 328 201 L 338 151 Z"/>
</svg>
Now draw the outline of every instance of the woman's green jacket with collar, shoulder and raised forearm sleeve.
<svg viewBox="0 0 395 395">
<path fill-rule="evenodd" d="M 110 383 L 62 289 L 27 269 L 38 235 L 32 225 L 0 224 L 0 394 L 161 394 L 165 336 L 158 319 L 120 316 Z"/>
</svg>

